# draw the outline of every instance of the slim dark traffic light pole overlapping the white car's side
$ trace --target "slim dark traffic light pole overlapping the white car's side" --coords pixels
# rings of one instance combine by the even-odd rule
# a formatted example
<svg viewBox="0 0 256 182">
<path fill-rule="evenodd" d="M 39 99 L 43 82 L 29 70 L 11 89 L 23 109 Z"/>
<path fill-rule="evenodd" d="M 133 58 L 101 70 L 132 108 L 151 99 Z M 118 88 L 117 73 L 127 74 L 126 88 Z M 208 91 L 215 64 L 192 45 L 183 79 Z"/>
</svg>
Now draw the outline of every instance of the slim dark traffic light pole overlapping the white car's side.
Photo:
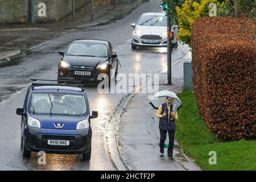
<svg viewBox="0 0 256 182">
<path fill-rule="evenodd" d="M 167 15 L 167 77 L 168 77 L 168 85 L 172 84 L 172 47 L 171 47 L 171 39 L 170 39 L 170 32 L 171 32 L 171 21 L 170 17 Z"/>
</svg>

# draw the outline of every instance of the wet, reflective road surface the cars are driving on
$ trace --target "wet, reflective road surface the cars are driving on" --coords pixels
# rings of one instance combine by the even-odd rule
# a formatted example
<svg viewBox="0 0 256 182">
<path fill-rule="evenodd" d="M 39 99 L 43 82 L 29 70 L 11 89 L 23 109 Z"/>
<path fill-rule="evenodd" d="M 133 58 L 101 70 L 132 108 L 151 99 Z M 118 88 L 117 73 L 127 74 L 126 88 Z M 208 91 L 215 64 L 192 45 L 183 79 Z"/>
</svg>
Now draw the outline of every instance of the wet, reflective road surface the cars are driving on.
<svg viewBox="0 0 256 182">
<path fill-rule="evenodd" d="M 144 3 L 132 14 L 105 26 L 71 32 L 43 46 L 31 49 L 21 58 L 0 65 L 0 169 L 1 170 L 125 170 L 114 143 L 112 116 L 127 93 L 100 94 L 97 88 L 85 88 L 89 98 L 90 110 L 98 110 L 99 117 L 92 119 L 92 159 L 81 162 L 79 155 L 47 154 L 46 165 L 38 164 L 38 154 L 32 153 L 30 159 L 22 158 L 20 150 L 20 116 L 16 108 L 23 106 L 24 95 L 30 78 L 56 79 L 57 62 L 63 51 L 73 39 L 94 38 L 112 42 L 122 68 L 119 73 L 166 72 L 166 48 L 143 48 L 131 50 L 131 23 L 148 11 L 160 11 L 160 1 Z M 179 45 L 174 54 L 180 55 L 183 47 Z M 177 60 L 179 61 L 179 60 Z M 174 63 L 175 65 L 175 63 Z M 130 85 L 133 88 L 134 85 Z M 127 89 L 128 90 L 128 89 Z"/>
</svg>

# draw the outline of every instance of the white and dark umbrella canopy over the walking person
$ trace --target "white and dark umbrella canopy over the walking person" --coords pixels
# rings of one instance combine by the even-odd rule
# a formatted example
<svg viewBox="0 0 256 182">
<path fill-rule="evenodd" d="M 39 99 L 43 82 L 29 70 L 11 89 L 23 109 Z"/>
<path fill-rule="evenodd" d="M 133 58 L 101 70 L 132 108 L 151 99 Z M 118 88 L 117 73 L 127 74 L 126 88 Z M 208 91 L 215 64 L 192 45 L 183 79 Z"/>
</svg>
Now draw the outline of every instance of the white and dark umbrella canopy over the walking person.
<svg viewBox="0 0 256 182">
<path fill-rule="evenodd" d="M 168 90 L 163 90 L 155 94 L 155 96 L 152 98 L 150 101 L 150 105 L 154 107 L 154 109 L 158 109 L 158 107 L 166 102 L 167 97 L 172 97 L 174 98 L 174 110 L 180 109 L 182 106 L 181 101 L 179 97 L 176 96 L 174 92 L 168 91 Z"/>
</svg>

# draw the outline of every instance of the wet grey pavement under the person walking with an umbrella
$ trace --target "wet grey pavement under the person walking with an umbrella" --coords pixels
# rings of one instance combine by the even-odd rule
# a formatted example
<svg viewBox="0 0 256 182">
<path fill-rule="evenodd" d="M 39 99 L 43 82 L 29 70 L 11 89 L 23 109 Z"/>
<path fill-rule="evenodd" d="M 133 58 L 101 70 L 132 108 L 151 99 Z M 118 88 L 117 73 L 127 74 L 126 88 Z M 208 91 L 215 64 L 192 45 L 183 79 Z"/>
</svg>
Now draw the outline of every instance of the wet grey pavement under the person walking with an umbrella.
<svg viewBox="0 0 256 182">
<path fill-rule="evenodd" d="M 159 91 L 170 90 L 179 93 L 183 89 L 183 63 L 191 60 L 191 52 L 181 46 L 181 57 L 174 52 L 172 65 L 172 85 L 167 84 L 167 74 L 159 72 Z M 187 52 L 185 52 L 187 50 Z M 193 159 L 188 158 L 175 140 L 174 156 L 167 156 L 159 152 L 160 133 L 159 118 L 156 110 L 149 104 L 148 94 L 135 92 L 132 100 L 123 107 L 116 130 L 116 142 L 119 155 L 127 170 L 139 171 L 179 171 L 201 170 Z M 179 113 L 179 112 L 178 112 Z M 179 122 L 179 119 L 176 123 Z M 168 134 L 166 142 L 168 143 Z"/>
</svg>

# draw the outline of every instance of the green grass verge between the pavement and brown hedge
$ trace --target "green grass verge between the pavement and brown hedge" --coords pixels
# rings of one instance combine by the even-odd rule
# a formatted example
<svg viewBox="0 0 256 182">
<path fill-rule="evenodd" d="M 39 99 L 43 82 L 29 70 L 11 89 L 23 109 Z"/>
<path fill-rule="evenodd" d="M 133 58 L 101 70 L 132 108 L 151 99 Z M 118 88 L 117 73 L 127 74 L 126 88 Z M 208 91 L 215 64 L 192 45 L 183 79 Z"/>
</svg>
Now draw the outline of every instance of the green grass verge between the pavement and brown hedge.
<svg viewBox="0 0 256 182">
<path fill-rule="evenodd" d="M 221 142 L 200 118 L 192 91 L 177 94 L 183 106 L 176 122 L 176 139 L 186 155 L 203 170 L 256 170 L 256 141 Z M 213 155 L 216 152 L 216 164 Z"/>
</svg>

